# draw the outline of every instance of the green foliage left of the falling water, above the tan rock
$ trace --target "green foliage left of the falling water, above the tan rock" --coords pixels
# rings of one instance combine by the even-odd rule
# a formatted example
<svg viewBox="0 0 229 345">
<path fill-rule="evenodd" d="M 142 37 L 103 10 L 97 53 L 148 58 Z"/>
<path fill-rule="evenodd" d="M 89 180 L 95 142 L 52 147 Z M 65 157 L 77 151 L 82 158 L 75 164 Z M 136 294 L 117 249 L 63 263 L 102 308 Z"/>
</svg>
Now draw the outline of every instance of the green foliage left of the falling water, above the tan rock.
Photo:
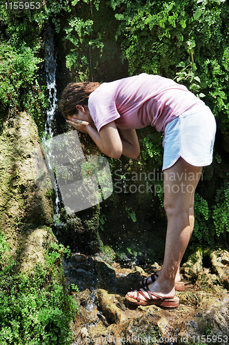
<svg viewBox="0 0 229 345">
<path fill-rule="evenodd" d="M 0 8 L 0 111 L 10 116 L 26 110 L 43 132 L 43 110 L 48 106 L 45 90 L 39 85 L 42 59 L 42 10 Z"/>
</svg>

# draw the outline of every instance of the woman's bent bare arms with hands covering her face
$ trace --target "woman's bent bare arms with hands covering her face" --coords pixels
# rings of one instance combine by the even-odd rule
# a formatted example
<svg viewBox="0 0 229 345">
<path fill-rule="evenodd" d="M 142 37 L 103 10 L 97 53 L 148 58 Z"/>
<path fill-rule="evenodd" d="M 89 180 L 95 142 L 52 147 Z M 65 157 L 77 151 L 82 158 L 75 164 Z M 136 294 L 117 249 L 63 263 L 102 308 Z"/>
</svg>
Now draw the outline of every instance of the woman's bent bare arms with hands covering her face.
<svg viewBox="0 0 229 345">
<path fill-rule="evenodd" d="M 88 133 L 99 150 L 111 158 L 119 159 L 121 155 L 125 155 L 135 159 L 139 155 L 139 141 L 134 129 L 118 130 L 115 121 L 112 121 L 98 133 L 87 121 L 74 119 L 67 122 L 77 130 Z"/>
</svg>

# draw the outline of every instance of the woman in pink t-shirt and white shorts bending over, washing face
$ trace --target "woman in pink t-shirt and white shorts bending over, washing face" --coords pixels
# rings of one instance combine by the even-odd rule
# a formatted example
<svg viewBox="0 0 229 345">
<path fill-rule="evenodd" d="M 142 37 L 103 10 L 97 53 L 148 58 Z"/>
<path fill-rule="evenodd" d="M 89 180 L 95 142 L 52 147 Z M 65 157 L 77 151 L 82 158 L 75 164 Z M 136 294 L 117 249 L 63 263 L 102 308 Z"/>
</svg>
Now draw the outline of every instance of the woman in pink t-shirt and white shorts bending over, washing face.
<svg viewBox="0 0 229 345">
<path fill-rule="evenodd" d="M 215 118 L 185 86 L 143 73 L 110 83 L 70 83 L 61 111 L 68 124 L 88 133 L 105 155 L 136 159 L 136 129 L 154 126 L 164 132 L 164 208 L 168 218 L 163 266 L 127 293 L 130 304 L 175 308 L 179 265 L 194 226 L 194 195 L 203 166 L 212 162 Z M 177 289 L 179 289 L 177 287 Z M 182 289 L 182 287 L 181 287 Z"/>
</svg>

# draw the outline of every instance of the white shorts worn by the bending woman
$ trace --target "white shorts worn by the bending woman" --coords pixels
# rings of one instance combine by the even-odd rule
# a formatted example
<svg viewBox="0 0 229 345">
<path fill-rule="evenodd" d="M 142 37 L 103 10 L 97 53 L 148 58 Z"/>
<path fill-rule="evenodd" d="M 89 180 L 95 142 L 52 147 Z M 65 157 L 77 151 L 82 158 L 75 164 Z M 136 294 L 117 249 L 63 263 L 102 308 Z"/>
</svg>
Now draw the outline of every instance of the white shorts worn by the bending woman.
<svg viewBox="0 0 229 345">
<path fill-rule="evenodd" d="M 172 120 L 165 128 L 163 168 L 166 170 L 182 157 L 192 166 L 212 163 L 216 123 L 205 104 L 195 104 Z"/>
</svg>

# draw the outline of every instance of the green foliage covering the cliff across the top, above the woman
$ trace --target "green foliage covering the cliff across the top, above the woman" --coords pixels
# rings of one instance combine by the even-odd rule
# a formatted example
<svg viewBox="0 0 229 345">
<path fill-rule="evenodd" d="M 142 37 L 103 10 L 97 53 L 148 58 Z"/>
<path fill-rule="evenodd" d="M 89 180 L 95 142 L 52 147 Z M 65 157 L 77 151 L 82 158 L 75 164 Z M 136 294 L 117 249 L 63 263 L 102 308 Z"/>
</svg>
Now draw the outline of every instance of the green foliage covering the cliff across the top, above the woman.
<svg viewBox="0 0 229 345">
<path fill-rule="evenodd" d="M 101 75 L 99 66 L 114 55 L 112 39 L 116 37 L 121 42 L 123 59 L 128 60 L 130 75 L 156 73 L 185 83 L 199 97 L 206 97 L 206 103 L 221 119 L 220 126 L 227 130 L 229 6 L 226 1 L 47 0 L 41 2 L 39 10 L 10 11 L 1 6 L 0 11 L 2 40 L 16 49 L 30 47 L 34 57 L 41 48 L 41 31 L 52 21 L 57 34 L 61 32 L 63 37 L 66 66 L 79 81 L 93 79 L 95 73 Z M 26 59 L 28 65 L 28 53 Z M 38 61 L 31 62 L 35 72 L 34 64 Z M 118 66 L 116 71 L 118 74 Z M 30 85 L 32 78 L 30 70 L 30 79 L 26 81 Z M 39 101 L 37 83 L 34 87 Z M 2 94 L 10 89 L 12 86 L 4 79 Z M 15 92 L 17 88 L 8 93 Z M 24 93 L 28 95 L 27 90 Z M 10 100 L 2 94 L 6 106 Z M 29 94 L 31 99 L 34 90 Z"/>
</svg>

